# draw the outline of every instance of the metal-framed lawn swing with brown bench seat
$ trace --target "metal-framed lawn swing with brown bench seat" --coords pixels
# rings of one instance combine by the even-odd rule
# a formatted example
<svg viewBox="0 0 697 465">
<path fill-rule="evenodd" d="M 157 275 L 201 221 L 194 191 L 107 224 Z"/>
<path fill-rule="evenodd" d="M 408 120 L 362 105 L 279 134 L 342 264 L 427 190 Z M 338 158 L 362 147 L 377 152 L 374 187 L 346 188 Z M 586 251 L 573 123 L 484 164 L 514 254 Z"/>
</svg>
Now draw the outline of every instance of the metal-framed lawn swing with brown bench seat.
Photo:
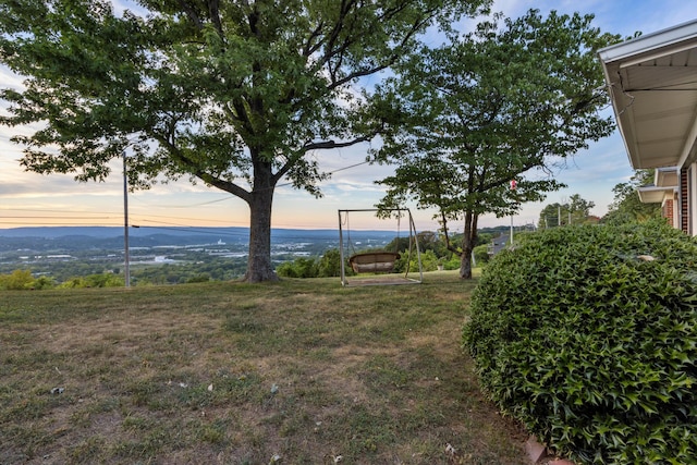
<svg viewBox="0 0 697 465">
<path fill-rule="evenodd" d="M 407 264 L 411 262 L 412 256 L 415 253 L 418 262 L 418 279 L 409 278 L 408 266 L 404 274 L 392 273 L 394 269 L 394 261 L 400 258 L 400 254 L 395 252 L 388 252 L 382 249 L 367 250 L 360 254 L 353 253 L 353 244 L 351 243 L 351 228 L 348 224 L 348 213 L 353 212 L 389 212 L 390 216 L 396 213 L 398 220 L 398 243 L 400 238 L 400 222 L 402 218 L 408 220 L 409 225 L 409 247 Z M 352 255 L 346 260 L 344 245 L 344 224 L 346 227 L 346 241 L 347 245 L 352 247 Z M 354 209 L 354 210 L 339 210 L 339 250 L 341 254 L 341 284 L 344 286 L 351 285 L 395 285 L 395 284 L 420 284 L 424 281 L 424 269 L 421 267 L 421 253 L 418 246 L 418 236 L 416 234 L 416 227 L 414 224 L 414 218 L 412 211 L 408 208 L 391 208 L 391 209 Z M 366 274 L 368 277 L 356 277 L 351 280 L 346 276 L 346 261 L 351 265 L 351 268 L 356 274 Z"/>
</svg>

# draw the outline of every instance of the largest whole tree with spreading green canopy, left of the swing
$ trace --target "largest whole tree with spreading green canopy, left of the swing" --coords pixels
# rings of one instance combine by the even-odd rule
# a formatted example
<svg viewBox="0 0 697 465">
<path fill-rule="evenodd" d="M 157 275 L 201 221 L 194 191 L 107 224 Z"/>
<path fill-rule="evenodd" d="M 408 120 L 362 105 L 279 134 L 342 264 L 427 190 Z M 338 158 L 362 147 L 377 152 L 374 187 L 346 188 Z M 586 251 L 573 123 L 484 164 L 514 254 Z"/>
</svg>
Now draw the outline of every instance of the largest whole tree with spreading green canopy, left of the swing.
<svg viewBox="0 0 697 465">
<path fill-rule="evenodd" d="M 279 182 L 319 196 L 311 154 L 370 140 L 389 114 L 360 89 L 487 0 L 103 0 L 0 3 L 0 123 L 40 123 L 13 140 L 39 173 L 103 180 L 129 152 L 131 186 L 187 176 L 244 200 L 246 279 L 276 279 L 271 206 Z M 36 126 L 35 126 L 36 127 Z"/>
</svg>

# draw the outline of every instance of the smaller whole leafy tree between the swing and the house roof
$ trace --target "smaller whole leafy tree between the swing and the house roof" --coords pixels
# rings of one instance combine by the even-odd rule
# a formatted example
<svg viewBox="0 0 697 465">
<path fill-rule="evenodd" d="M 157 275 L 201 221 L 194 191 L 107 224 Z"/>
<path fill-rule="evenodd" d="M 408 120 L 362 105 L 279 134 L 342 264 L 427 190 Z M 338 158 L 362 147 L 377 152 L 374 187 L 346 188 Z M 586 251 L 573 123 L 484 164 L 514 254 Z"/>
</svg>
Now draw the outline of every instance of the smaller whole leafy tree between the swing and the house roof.
<svg viewBox="0 0 697 465">
<path fill-rule="evenodd" d="M 599 114 L 607 94 L 596 52 L 620 37 L 591 27 L 592 17 L 494 15 L 424 49 L 379 88 L 383 107 L 402 121 L 375 152 L 378 162 L 396 164 L 379 181 L 388 187 L 379 207 L 412 199 L 435 207 L 464 279 L 472 278 L 481 215 L 504 217 L 543 199 L 563 186 L 550 168 L 613 131 L 611 118 Z M 462 219 L 455 244 L 449 229 Z"/>
</svg>

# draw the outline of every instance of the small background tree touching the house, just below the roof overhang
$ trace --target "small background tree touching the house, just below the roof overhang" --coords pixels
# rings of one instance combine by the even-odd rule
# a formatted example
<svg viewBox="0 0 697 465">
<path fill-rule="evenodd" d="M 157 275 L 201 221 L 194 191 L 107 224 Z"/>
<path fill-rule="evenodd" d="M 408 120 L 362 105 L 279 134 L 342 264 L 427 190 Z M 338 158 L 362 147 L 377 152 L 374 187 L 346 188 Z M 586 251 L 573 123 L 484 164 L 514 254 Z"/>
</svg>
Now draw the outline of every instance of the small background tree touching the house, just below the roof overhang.
<svg viewBox="0 0 697 465">
<path fill-rule="evenodd" d="M 655 170 L 637 170 L 628 182 L 616 184 L 612 188 L 614 199 L 602 221 L 609 224 L 622 224 L 660 218 L 661 205 L 643 204 L 636 192 L 638 187 L 653 183 L 653 173 Z"/>
</svg>

